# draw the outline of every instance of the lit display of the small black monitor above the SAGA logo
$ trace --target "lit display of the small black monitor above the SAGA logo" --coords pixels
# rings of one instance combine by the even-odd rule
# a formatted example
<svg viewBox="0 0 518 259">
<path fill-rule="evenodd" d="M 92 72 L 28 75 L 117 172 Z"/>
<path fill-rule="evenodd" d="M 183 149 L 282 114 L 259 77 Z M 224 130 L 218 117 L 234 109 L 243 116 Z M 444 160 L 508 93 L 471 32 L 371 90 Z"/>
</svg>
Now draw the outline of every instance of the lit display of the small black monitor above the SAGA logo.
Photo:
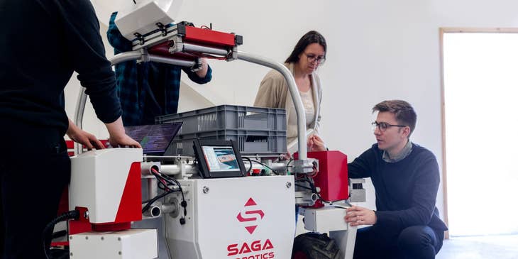
<svg viewBox="0 0 518 259">
<path fill-rule="evenodd" d="M 202 145 L 202 150 L 210 172 L 241 171 L 232 146 Z"/>
</svg>

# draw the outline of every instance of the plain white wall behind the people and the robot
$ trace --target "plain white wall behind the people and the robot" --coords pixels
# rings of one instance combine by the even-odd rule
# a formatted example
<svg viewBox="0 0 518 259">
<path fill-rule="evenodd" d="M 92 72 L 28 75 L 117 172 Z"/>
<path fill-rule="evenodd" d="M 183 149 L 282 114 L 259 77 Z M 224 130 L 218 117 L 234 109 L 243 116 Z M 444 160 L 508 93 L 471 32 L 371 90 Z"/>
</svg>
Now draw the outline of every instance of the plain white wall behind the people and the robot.
<svg viewBox="0 0 518 259">
<path fill-rule="evenodd" d="M 98 11 L 105 16 L 101 21 L 107 21 L 112 10 L 106 9 L 114 7 L 108 0 L 93 2 L 103 8 Z M 324 83 L 322 135 L 330 148 L 356 158 L 374 143 L 372 106 L 404 99 L 418 114 L 412 140 L 434 152 L 441 166 L 439 28 L 518 27 L 517 10 L 516 0 L 184 0 L 178 21 L 212 23 L 215 30 L 243 35 L 240 50 L 278 62 L 304 33 L 320 31 L 328 42 L 327 61 L 319 72 Z M 215 104 L 253 104 L 268 69 L 240 60 L 210 64 L 212 82 L 194 86 L 197 91 Z M 368 205 L 373 207 L 369 189 Z M 439 192 L 442 211 L 442 187 Z"/>
</svg>

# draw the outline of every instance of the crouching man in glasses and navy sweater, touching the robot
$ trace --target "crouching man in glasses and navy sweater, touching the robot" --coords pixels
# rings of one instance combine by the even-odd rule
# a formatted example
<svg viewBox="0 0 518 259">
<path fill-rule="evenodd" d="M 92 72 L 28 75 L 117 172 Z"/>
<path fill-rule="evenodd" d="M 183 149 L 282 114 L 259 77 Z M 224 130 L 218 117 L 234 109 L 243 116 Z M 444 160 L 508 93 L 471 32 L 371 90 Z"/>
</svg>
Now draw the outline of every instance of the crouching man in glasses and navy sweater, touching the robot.
<svg viewBox="0 0 518 259">
<path fill-rule="evenodd" d="M 370 177 L 376 210 L 352 206 L 346 222 L 359 228 L 354 258 L 435 258 L 448 228 L 439 219 L 439 166 L 426 148 L 410 141 L 417 115 L 407 101 L 376 104 L 377 143 L 348 164 L 351 178 Z"/>
</svg>

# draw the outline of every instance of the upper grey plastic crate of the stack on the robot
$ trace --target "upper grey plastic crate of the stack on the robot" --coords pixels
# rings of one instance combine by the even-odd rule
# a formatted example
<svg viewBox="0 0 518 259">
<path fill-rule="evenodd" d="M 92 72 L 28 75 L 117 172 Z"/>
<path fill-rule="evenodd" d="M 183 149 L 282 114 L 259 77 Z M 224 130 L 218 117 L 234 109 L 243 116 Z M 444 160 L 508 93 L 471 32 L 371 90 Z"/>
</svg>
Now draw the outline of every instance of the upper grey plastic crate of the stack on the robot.
<svg viewBox="0 0 518 259">
<path fill-rule="evenodd" d="M 155 118 L 155 123 L 182 121 L 178 135 L 226 129 L 286 131 L 286 110 L 250 106 L 220 105 Z"/>
</svg>

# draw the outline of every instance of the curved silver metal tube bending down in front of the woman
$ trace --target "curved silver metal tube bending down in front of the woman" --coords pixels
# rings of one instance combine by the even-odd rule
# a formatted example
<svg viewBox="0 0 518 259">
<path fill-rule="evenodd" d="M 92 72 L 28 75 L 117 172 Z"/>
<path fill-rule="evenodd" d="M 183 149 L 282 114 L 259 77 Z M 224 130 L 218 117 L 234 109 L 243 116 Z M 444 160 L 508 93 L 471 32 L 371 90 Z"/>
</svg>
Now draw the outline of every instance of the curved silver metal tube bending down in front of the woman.
<svg viewBox="0 0 518 259">
<path fill-rule="evenodd" d="M 249 53 L 243 53 L 238 51 L 238 60 L 245 60 L 265 67 L 270 67 L 280 72 L 288 83 L 288 89 L 293 99 L 295 106 L 295 112 L 297 113 L 297 138 L 299 142 L 299 160 L 307 160 L 307 139 L 306 137 L 306 116 L 304 114 L 304 106 L 302 105 L 302 99 L 300 98 L 297 84 L 293 78 L 290 70 L 279 62 L 275 62 L 266 57 L 260 57 L 258 55 L 251 55 Z"/>
</svg>

